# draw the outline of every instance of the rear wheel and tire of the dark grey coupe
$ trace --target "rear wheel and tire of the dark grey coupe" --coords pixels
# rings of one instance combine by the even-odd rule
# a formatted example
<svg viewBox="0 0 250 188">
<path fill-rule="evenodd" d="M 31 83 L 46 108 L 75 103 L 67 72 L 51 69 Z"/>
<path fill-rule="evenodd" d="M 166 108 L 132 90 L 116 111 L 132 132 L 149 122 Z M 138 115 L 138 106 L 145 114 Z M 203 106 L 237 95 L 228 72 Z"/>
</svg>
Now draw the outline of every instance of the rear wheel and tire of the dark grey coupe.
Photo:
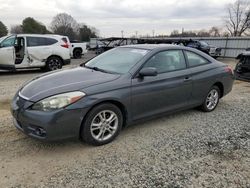
<svg viewBox="0 0 250 188">
<path fill-rule="evenodd" d="M 209 90 L 209 92 L 206 96 L 206 99 L 204 100 L 203 104 L 201 105 L 201 110 L 204 112 L 213 111 L 219 103 L 220 95 L 221 95 L 220 89 L 214 85 Z"/>
</svg>

